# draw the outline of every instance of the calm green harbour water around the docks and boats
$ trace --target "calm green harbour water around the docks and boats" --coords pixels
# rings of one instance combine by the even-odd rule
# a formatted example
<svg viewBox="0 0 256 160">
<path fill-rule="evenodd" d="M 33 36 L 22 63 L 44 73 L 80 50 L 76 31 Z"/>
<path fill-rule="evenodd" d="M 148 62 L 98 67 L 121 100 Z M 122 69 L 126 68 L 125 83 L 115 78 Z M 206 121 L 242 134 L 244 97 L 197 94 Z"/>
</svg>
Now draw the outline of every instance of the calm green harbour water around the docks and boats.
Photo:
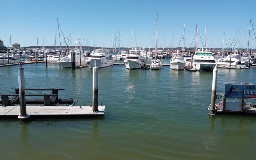
<svg viewBox="0 0 256 160">
<path fill-rule="evenodd" d="M 65 88 L 60 97 L 92 104 L 92 70 L 23 67 L 26 88 Z M 14 93 L 17 68 L 0 68 L 0 93 Z M 227 83 L 256 84 L 255 72 L 219 69 L 217 93 Z M 1 119 L 0 159 L 256 159 L 256 118 L 210 117 L 211 84 L 212 72 L 100 68 L 104 117 Z"/>
</svg>

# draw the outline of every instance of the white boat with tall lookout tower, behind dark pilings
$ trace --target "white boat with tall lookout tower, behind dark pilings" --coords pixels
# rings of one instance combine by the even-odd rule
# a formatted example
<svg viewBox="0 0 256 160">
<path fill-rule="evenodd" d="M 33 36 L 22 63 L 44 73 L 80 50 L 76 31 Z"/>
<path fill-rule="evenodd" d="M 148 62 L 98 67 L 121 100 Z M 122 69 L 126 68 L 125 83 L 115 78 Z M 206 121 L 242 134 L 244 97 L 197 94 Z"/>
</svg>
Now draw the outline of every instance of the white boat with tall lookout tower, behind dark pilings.
<svg viewBox="0 0 256 160">
<path fill-rule="evenodd" d="M 81 48 L 80 37 L 76 37 L 74 48 L 68 52 L 68 55 L 60 59 L 60 65 L 62 68 L 71 68 L 71 53 L 76 55 L 76 67 L 86 65 L 86 58 L 83 56 L 83 50 Z M 81 57 L 81 58 L 80 58 Z M 81 59 L 81 64 L 80 64 Z M 47 59 L 48 61 L 48 59 Z"/>
</svg>

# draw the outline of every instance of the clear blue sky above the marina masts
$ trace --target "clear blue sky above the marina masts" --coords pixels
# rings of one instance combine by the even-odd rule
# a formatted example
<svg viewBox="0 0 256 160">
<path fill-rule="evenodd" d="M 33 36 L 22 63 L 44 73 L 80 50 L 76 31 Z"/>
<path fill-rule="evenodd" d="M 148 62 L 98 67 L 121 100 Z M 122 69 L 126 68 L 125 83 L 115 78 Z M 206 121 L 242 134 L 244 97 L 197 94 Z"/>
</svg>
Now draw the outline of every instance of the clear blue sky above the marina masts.
<svg viewBox="0 0 256 160">
<path fill-rule="evenodd" d="M 90 46 L 94 45 L 95 40 L 95 46 L 113 47 L 112 33 L 116 27 L 116 32 L 118 34 L 120 32 L 123 47 L 131 47 L 132 29 L 138 47 L 154 47 L 157 13 L 158 47 L 160 45 L 163 47 L 161 42 L 164 36 L 165 47 L 168 47 L 173 34 L 173 46 L 178 47 L 184 23 L 185 47 L 190 47 L 192 43 L 196 24 L 203 43 L 205 25 L 207 25 L 209 48 L 222 46 L 224 31 L 226 40 L 228 41 L 229 37 L 232 42 L 241 26 L 242 48 L 247 48 L 250 18 L 256 32 L 256 0 L 12 0 L 11 2 L 0 0 L 0 39 L 8 47 L 11 35 L 12 44 L 19 43 L 21 47 L 25 47 L 37 45 L 37 38 L 39 45 L 42 45 L 44 37 L 44 45 L 52 46 L 55 42 L 55 34 L 59 37 L 58 18 L 64 36 L 67 38 L 71 33 L 72 43 L 76 36 L 80 36 L 82 45 L 85 43 L 84 39 L 89 37 Z M 63 45 L 63 36 L 60 37 Z M 252 31 L 250 47 L 253 37 Z M 203 47 L 201 39 L 198 37 L 198 47 Z M 255 39 L 254 44 L 255 47 Z"/>
</svg>

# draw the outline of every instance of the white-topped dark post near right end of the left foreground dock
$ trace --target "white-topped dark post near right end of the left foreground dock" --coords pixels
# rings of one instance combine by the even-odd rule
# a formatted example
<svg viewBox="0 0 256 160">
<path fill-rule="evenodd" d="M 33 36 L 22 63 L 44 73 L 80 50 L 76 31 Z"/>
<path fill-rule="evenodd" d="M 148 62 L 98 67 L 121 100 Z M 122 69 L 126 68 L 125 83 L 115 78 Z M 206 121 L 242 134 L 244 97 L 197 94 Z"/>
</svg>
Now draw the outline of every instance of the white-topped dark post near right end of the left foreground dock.
<svg viewBox="0 0 256 160">
<path fill-rule="evenodd" d="M 92 68 L 92 112 L 98 112 L 98 67 Z"/>
</svg>

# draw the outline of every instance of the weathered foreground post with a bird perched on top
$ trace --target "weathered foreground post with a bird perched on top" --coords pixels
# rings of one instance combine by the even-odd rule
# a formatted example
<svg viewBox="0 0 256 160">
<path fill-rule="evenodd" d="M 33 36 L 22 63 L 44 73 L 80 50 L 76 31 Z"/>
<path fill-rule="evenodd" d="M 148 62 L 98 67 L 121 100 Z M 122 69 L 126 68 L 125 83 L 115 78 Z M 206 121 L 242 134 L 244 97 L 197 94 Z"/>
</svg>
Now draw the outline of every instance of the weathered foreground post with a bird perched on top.
<svg viewBox="0 0 256 160">
<path fill-rule="evenodd" d="M 27 115 L 26 109 L 26 99 L 25 99 L 25 76 L 24 68 L 18 68 L 18 79 L 19 79 L 19 96 L 20 96 L 20 115 L 19 119 L 28 118 L 30 115 Z"/>
</svg>

